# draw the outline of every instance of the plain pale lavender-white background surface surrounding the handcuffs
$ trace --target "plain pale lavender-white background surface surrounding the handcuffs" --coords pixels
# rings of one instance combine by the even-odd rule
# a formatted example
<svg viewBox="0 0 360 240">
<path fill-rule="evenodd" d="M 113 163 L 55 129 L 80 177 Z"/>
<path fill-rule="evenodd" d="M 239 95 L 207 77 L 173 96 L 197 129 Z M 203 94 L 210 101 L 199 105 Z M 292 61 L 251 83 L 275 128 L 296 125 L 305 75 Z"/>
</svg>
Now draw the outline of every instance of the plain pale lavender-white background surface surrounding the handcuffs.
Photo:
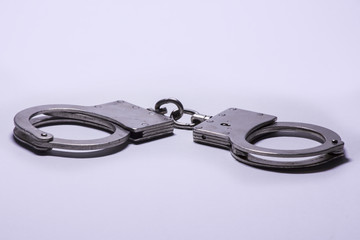
<svg viewBox="0 0 360 240">
<path fill-rule="evenodd" d="M 359 239 L 359 43 L 356 0 L 1 0 L 0 239 Z M 166 97 L 325 126 L 348 161 L 265 171 L 180 130 L 93 158 L 12 139 L 27 107 Z"/>
</svg>

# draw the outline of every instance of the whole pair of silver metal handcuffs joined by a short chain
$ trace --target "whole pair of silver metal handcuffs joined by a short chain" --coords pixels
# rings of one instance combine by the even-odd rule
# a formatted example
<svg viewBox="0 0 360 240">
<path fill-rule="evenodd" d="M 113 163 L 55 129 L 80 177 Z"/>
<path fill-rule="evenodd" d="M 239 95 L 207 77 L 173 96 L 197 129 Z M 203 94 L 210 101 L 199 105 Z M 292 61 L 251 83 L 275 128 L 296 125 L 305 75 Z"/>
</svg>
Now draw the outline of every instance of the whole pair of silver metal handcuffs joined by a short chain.
<svg viewBox="0 0 360 240">
<path fill-rule="evenodd" d="M 166 116 L 165 104 L 175 104 L 177 110 Z M 191 123 L 180 123 L 184 115 L 191 115 Z M 263 113 L 229 108 L 217 115 L 207 116 L 184 109 L 174 98 L 163 99 L 155 109 L 145 109 L 125 101 L 96 106 L 43 105 L 25 109 L 15 118 L 14 137 L 32 149 L 48 151 L 100 150 L 130 142 L 144 142 L 169 136 L 174 128 L 193 130 L 197 143 L 229 149 L 232 156 L 251 166 L 268 169 L 303 169 L 321 165 L 344 155 L 344 142 L 335 132 L 316 125 L 295 122 L 276 122 L 276 117 Z M 94 140 L 56 138 L 38 127 L 56 124 L 80 124 L 102 129 L 111 135 Z M 256 142 L 274 136 L 312 139 L 319 146 L 298 149 L 269 149 Z M 265 156 L 265 158 L 264 158 Z M 266 157 L 299 158 L 300 161 L 275 161 Z"/>
</svg>

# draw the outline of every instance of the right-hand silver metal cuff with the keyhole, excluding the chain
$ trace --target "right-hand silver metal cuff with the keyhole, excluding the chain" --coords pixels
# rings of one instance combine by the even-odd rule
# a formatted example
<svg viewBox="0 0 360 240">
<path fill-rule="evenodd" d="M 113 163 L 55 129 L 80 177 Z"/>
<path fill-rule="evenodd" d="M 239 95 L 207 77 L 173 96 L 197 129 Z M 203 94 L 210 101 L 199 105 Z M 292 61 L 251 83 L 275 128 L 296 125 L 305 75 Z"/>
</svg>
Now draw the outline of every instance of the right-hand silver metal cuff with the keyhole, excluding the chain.
<svg viewBox="0 0 360 240">
<path fill-rule="evenodd" d="M 328 162 L 343 154 L 344 143 L 335 132 L 305 123 L 275 123 L 276 117 L 230 108 L 194 128 L 194 141 L 230 149 L 239 161 L 266 168 L 304 168 Z M 273 136 L 292 136 L 315 140 L 320 146 L 300 150 L 269 149 L 254 145 Z M 278 158 L 314 157 L 302 161 L 273 161 Z"/>
</svg>

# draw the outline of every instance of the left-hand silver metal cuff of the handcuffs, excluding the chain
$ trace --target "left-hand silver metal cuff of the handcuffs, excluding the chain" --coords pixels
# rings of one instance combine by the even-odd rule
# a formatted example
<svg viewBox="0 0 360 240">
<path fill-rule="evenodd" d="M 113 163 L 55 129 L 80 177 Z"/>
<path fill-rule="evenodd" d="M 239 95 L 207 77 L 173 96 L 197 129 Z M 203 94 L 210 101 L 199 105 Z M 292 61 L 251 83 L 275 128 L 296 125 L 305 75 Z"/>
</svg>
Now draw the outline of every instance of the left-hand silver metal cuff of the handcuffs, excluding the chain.
<svg viewBox="0 0 360 240">
<path fill-rule="evenodd" d="M 37 115 L 55 118 L 34 118 Z M 66 123 L 69 121 L 83 125 L 111 130 L 106 138 L 95 140 L 65 140 L 37 128 L 41 124 Z M 116 101 L 92 107 L 76 105 L 43 105 L 25 109 L 15 118 L 14 136 L 38 150 L 50 148 L 92 150 L 124 144 L 128 139 L 142 142 L 173 132 L 172 119 L 125 101 Z"/>
</svg>

